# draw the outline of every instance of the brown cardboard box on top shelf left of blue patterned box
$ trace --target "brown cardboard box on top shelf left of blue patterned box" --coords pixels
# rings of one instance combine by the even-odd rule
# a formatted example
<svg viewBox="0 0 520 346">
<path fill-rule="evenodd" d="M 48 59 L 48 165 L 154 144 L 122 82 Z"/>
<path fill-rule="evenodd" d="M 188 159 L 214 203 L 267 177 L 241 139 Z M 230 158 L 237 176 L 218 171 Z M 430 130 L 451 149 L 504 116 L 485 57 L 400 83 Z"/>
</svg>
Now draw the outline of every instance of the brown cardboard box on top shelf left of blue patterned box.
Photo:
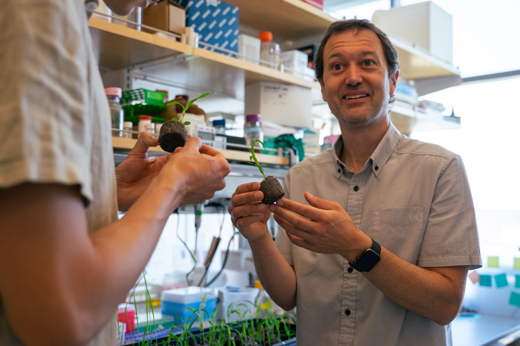
<svg viewBox="0 0 520 346">
<path fill-rule="evenodd" d="M 182 35 L 186 28 L 186 11 L 170 1 L 155 3 L 144 9 L 142 23 L 159 30 Z M 153 32 L 146 28 L 143 30 L 148 33 Z"/>
</svg>

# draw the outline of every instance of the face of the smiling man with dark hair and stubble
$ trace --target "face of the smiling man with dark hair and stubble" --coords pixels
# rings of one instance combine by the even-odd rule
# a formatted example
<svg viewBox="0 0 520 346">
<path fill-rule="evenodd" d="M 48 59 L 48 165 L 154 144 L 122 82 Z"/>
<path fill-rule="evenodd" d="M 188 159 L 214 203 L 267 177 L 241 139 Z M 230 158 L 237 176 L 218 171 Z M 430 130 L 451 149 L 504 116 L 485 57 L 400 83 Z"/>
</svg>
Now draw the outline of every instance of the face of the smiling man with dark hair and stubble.
<svg viewBox="0 0 520 346">
<path fill-rule="evenodd" d="M 340 121 L 363 128 L 386 119 L 399 71 L 388 77 L 383 46 L 371 30 L 332 35 L 323 51 L 323 100 Z"/>
</svg>

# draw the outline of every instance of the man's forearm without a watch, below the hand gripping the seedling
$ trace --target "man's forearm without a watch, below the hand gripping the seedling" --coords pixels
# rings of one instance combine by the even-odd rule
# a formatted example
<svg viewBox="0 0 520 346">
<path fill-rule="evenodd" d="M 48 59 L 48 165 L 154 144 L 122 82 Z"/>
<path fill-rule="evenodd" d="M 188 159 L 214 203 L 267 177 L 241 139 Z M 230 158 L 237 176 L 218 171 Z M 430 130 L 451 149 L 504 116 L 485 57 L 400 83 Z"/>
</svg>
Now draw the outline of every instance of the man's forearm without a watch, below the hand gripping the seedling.
<svg viewBox="0 0 520 346">
<path fill-rule="evenodd" d="M 281 257 L 275 242 L 266 237 L 250 242 L 254 268 L 270 298 L 288 311 L 296 306 L 296 277 L 293 268 Z"/>
</svg>

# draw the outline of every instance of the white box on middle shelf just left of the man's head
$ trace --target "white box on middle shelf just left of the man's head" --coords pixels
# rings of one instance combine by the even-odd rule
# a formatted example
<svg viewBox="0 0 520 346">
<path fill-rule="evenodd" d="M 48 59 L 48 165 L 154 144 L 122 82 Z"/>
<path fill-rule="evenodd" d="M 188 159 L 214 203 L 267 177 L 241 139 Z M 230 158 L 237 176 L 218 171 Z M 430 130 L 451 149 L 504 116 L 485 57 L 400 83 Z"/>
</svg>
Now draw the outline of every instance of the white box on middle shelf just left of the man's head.
<svg viewBox="0 0 520 346">
<path fill-rule="evenodd" d="M 257 82 L 245 87 L 245 114 L 261 114 L 262 121 L 310 128 L 312 90 L 301 86 Z"/>
</svg>

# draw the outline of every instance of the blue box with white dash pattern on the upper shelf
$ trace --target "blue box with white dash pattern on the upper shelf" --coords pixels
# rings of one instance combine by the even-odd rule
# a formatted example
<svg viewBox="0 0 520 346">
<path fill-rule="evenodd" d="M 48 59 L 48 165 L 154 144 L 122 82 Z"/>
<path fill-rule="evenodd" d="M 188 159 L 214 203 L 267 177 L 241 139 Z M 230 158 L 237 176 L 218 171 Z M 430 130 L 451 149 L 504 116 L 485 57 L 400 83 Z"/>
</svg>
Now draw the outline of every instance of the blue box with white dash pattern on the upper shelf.
<svg viewBox="0 0 520 346">
<path fill-rule="evenodd" d="M 173 0 L 186 10 L 186 26 L 193 27 L 204 42 L 228 51 L 238 51 L 239 8 L 220 0 Z M 229 56 L 233 53 L 200 44 L 209 51 L 218 51 Z"/>
</svg>

